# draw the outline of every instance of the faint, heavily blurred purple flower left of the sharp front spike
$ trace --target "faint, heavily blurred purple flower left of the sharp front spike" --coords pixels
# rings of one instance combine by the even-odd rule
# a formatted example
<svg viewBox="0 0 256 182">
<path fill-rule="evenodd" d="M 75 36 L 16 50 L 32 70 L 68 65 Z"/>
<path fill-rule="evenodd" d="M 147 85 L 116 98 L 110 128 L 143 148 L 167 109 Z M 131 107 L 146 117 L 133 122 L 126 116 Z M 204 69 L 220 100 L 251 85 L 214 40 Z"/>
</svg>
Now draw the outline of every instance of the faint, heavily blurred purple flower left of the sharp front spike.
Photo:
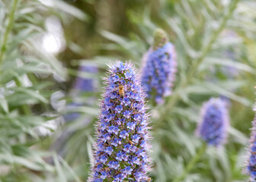
<svg viewBox="0 0 256 182">
<path fill-rule="evenodd" d="M 98 67 L 81 65 L 79 67 L 79 71 L 84 73 L 94 74 L 98 72 Z M 76 77 L 75 79 L 74 89 L 78 89 L 82 92 L 93 92 L 95 88 L 96 88 L 96 80 L 92 78 L 85 78 L 85 77 L 82 77 L 81 75 L 79 76 L 78 74 L 78 77 Z"/>
</svg>

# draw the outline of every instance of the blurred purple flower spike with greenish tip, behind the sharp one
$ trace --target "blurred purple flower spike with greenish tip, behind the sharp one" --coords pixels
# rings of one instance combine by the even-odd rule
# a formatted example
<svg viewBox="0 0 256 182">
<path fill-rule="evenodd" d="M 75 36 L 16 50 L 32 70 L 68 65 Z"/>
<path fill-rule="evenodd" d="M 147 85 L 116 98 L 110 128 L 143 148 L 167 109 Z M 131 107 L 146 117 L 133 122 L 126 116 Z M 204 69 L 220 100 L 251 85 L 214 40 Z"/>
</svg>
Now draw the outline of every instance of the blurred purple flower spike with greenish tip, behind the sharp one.
<svg viewBox="0 0 256 182">
<path fill-rule="evenodd" d="M 176 73 L 176 52 L 164 30 L 156 30 L 154 45 L 142 58 L 142 86 L 147 97 L 162 104 L 171 95 Z"/>
</svg>

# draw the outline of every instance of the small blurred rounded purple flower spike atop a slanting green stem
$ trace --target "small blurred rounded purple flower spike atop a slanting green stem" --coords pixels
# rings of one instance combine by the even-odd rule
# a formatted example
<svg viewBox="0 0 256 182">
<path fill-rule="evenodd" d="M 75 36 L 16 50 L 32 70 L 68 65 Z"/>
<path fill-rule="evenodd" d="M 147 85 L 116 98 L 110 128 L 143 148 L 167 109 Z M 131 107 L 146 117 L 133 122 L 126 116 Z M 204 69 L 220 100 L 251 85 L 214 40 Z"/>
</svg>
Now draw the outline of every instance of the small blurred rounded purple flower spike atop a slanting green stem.
<svg viewBox="0 0 256 182">
<path fill-rule="evenodd" d="M 226 142 L 229 127 L 229 114 L 226 102 L 219 98 L 211 98 L 201 109 L 201 121 L 197 127 L 197 135 L 208 145 L 221 146 Z"/>
</svg>

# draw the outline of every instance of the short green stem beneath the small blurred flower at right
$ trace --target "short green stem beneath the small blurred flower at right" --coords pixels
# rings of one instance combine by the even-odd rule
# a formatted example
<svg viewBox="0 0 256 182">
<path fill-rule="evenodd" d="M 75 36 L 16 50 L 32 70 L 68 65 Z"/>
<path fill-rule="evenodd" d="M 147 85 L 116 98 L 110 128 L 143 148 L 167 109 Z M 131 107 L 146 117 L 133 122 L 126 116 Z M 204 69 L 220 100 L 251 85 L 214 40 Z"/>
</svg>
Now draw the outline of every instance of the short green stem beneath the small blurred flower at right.
<svg viewBox="0 0 256 182">
<path fill-rule="evenodd" d="M 186 166 L 185 170 L 183 171 L 183 173 L 181 174 L 181 176 L 174 179 L 173 182 L 179 182 L 181 180 L 184 180 L 184 177 L 186 177 L 188 172 L 194 167 L 195 163 L 198 161 L 198 159 L 201 157 L 201 155 L 203 155 L 203 153 L 206 151 L 206 148 L 207 148 L 206 143 L 203 143 L 201 148 L 198 150 L 197 155 L 194 155 L 194 158 L 192 158 L 190 160 L 190 162 L 187 164 L 187 166 Z"/>
</svg>

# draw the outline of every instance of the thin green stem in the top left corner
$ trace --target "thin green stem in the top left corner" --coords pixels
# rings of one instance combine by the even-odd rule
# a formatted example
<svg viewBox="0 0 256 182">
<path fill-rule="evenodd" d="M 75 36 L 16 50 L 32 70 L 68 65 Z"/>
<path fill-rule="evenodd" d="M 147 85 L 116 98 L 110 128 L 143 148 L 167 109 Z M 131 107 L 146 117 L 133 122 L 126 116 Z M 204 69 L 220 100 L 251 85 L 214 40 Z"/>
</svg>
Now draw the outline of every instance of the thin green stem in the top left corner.
<svg viewBox="0 0 256 182">
<path fill-rule="evenodd" d="M 8 36 L 9 36 L 9 33 L 11 32 L 11 28 L 12 28 L 12 25 L 13 25 L 13 22 L 14 22 L 14 14 L 15 14 L 17 5 L 18 5 L 18 0 L 14 0 L 13 6 L 11 8 L 11 12 L 9 14 L 8 25 L 6 27 L 5 35 L 4 35 L 2 45 L 1 45 L 1 48 L 0 48 L 0 65 L 2 64 L 2 60 L 4 58 L 4 54 L 5 54 L 5 51 L 6 51 L 6 44 L 8 42 Z"/>
</svg>

